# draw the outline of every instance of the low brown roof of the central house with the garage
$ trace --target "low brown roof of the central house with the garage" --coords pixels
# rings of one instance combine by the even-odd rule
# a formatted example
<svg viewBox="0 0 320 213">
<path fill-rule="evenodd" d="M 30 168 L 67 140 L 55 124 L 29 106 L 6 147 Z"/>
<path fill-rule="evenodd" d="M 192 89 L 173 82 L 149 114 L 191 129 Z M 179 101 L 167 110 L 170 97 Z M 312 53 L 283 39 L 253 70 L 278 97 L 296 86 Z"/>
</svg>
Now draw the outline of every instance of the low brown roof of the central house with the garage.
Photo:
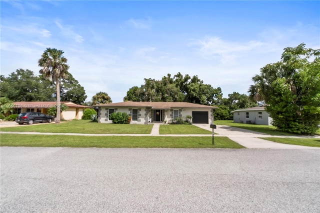
<svg viewBox="0 0 320 213">
<path fill-rule="evenodd" d="M 104 103 L 94 106 L 124 106 L 124 107 L 150 107 L 156 109 L 170 109 L 170 108 L 217 108 L 216 106 L 202 105 L 188 102 L 151 102 L 151 101 L 124 101 L 117 103 Z"/>
</svg>

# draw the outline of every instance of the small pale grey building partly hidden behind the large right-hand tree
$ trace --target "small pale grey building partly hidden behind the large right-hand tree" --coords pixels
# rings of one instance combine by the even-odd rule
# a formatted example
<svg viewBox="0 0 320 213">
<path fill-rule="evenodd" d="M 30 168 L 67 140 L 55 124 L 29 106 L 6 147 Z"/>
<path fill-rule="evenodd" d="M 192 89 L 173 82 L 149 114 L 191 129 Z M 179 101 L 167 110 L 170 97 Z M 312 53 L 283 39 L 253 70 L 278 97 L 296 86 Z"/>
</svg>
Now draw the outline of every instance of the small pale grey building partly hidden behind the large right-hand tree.
<svg viewBox="0 0 320 213">
<path fill-rule="evenodd" d="M 241 108 L 231 111 L 233 113 L 233 121 L 236 123 L 254 123 L 260 125 L 272 125 L 272 118 L 265 111 L 264 105 Z"/>
</svg>

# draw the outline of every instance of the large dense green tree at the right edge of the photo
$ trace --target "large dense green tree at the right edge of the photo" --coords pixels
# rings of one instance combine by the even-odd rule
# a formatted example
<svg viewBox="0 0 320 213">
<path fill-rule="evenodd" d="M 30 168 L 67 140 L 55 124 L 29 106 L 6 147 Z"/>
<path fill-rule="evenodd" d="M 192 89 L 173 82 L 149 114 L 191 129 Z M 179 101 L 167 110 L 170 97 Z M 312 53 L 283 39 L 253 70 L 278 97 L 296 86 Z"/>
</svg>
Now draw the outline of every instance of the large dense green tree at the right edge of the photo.
<svg viewBox="0 0 320 213">
<path fill-rule="evenodd" d="M 264 100 L 279 130 L 314 134 L 320 123 L 320 49 L 284 48 L 281 60 L 252 77 L 250 97 Z"/>
</svg>

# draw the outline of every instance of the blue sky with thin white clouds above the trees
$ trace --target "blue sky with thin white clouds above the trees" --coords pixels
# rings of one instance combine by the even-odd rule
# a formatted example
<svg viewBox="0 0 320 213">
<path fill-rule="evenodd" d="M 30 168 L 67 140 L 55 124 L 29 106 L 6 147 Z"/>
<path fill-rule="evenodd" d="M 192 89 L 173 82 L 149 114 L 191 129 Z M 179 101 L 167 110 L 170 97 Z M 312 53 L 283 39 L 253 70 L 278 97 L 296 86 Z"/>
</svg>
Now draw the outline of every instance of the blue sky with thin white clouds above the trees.
<svg viewBox="0 0 320 213">
<path fill-rule="evenodd" d="M 247 94 L 285 47 L 320 48 L 320 1 L 0 0 L 0 13 L 0 74 L 38 74 L 43 51 L 61 49 L 87 101 L 121 102 L 144 78 L 178 72 Z"/>
</svg>

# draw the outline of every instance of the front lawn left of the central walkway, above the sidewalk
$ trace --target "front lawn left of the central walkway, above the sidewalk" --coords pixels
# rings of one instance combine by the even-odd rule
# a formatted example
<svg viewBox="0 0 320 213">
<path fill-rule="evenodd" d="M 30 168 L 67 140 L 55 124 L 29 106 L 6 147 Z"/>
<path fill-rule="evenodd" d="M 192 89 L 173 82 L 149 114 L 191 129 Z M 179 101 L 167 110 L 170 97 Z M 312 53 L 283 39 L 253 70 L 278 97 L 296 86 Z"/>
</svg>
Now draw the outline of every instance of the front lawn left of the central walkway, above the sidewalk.
<svg viewBox="0 0 320 213">
<path fill-rule="evenodd" d="M 54 133 L 92 133 L 92 134 L 149 134 L 153 124 L 113 124 L 97 123 L 91 120 L 71 120 L 60 124 L 19 125 L 1 127 L 1 131 L 33 131 Z"/>
</svg>

